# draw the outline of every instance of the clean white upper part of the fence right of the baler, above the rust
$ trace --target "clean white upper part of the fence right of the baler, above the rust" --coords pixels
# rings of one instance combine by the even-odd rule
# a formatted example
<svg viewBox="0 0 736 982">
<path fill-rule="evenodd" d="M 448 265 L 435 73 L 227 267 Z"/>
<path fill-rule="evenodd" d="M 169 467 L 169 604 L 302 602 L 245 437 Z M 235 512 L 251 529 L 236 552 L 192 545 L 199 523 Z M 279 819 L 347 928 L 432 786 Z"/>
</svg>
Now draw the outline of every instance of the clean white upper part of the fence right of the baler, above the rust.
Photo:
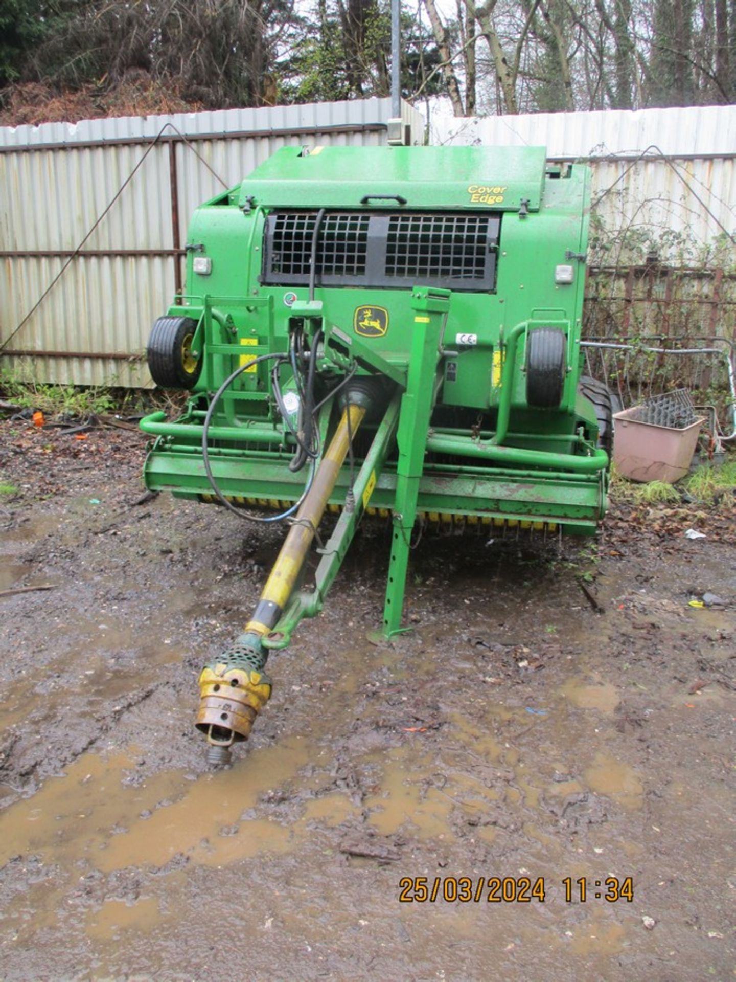
<svg viewBox="0 0 736 982">
<path fill-rule="evenodd" d="M 736 235 L 736 106 L 438 116 L 431 138 L 546 146 L 550 160 L 589 163 L 593 231 L 603 227 L 615 236 L 611 258 L 617 251 L 635 258 L 653 246 L 662 260 L 708 259 L 703 250 L 714 240 Z"/>
</svg>

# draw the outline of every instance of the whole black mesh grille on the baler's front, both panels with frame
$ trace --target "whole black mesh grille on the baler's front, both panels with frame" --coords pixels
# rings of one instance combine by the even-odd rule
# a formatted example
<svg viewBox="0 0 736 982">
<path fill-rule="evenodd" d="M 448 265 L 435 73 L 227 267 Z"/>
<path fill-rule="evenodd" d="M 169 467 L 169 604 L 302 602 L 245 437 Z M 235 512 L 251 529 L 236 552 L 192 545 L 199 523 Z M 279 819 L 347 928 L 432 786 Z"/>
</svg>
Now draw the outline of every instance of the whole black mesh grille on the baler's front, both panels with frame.
<svg viewBox="0 0 736 982">
<path fill-rule="evenodd" d="M 261 282 L 306 286 L 316 210 L 266 219 Z M 494 212 L 327 212 L 316 282 L 323 286 L 494 291 L 500 215 Z"/>
</svg>

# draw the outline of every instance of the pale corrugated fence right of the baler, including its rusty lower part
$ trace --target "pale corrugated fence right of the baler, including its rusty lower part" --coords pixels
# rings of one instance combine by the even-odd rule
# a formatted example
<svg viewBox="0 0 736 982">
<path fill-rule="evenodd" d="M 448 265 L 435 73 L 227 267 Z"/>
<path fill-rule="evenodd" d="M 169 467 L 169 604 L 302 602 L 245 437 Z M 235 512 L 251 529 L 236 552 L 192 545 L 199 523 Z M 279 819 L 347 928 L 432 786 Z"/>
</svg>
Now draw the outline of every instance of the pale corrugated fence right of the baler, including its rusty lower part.
<svg viewBox="0 0 736 982">
<path fill-rule="evenodd" d="M 438 116 L 431 138 L 590 164 L 589 339 L 734 341 L 736 106 Z"/>
</svg>

